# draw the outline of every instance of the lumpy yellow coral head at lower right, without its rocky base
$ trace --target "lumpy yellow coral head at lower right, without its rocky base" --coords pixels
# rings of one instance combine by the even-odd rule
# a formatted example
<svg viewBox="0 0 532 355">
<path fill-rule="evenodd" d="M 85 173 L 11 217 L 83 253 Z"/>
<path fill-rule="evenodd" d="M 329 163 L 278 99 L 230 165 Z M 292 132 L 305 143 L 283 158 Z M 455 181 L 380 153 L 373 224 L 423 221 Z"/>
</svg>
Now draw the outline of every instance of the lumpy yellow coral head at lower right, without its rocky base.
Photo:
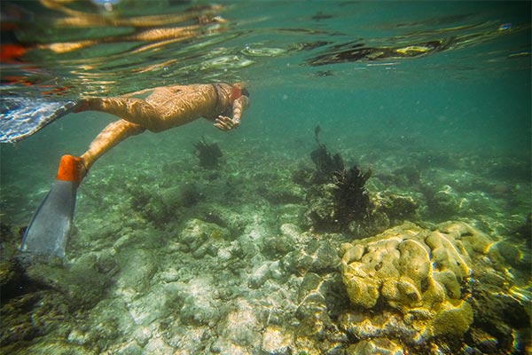
<svg viewBox="0 0 532 355">
<path fill-rule="evenodd" d="M 472 259 L 490 243 L 464 223 L 434 231 L 407 223 L 342 244 L 342 280 L 352 304 L 373 309 L 384 302 L 423 335 L 462 335 L 473 321 Z"/>
</svg>

